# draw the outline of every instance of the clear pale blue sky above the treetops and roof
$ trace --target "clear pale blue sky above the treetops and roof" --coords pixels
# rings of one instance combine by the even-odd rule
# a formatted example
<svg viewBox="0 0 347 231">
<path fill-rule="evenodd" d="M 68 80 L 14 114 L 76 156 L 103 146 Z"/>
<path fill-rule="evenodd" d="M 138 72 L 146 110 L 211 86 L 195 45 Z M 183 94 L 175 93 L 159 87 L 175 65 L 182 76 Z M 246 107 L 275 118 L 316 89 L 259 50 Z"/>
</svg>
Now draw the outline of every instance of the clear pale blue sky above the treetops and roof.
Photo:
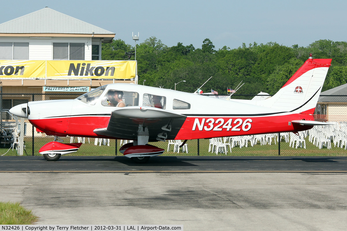
<svg viewBox="0 0 347 231">
<path fill-rule="evenodd" d="M 167 46 L 178 42 L 201 48 L 209 38 L 218 50 L 242 43 L 277 42 L 307 46 L 319 39 L 346 41 L 347 1 L 6 1 L 0 23 L 50 7 L 116 33 L 134 45 L 155 36 Z"/>
</svg>

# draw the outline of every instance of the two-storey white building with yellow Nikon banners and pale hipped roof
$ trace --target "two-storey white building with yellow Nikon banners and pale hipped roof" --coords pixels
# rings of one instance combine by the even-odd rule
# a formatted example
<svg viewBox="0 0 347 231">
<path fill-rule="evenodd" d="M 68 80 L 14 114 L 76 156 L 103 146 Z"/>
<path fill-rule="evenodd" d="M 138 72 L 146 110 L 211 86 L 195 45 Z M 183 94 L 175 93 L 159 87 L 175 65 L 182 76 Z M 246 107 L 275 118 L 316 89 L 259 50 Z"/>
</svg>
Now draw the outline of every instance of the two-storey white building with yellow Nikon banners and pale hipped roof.
<svg viewBox="0 0 347 231">
<path fill-rule="evenodd" d="M 100 61 L 101 44 L 110 43 L 114 37 L 113 32 L 48 7 L 1 23 L 1 109 L 32 101 L 32 94 L 42 94 L 42 100 L 57 99 L 57 96 L 46 94 L 61 94 L 61 89 L 70 87 L 81 88 L 64 94 L 82 94 L 108 83 L 135 83 L 135 61 Z M 115 72 L 113 64 L 117 67 L 131 64 L 129 72 L 132 73 L 121 75 Z M 84 92 L 76 92 L 76 89 L 83 89 Z M 1 122 L 11 121 L 10 117 L 1 113 Z M 30 135 L 31 131 L 27 134 Z"/>
</svg>

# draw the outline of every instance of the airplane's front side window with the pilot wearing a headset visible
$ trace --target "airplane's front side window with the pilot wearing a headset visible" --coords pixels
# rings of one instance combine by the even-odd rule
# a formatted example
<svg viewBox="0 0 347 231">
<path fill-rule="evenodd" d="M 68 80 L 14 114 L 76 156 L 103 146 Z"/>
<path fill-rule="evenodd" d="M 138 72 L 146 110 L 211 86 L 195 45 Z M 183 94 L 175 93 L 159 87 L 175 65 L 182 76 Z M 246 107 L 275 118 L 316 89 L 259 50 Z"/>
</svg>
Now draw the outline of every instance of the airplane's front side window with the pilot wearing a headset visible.
<svg viewBox="0 0 347 231">
<path fill-rule="evenodd" d="M 101 100 L 101 105 L 109 107 L 138 106 L 138 93 L 132 91 L 109 90 Z"/>
</svg>

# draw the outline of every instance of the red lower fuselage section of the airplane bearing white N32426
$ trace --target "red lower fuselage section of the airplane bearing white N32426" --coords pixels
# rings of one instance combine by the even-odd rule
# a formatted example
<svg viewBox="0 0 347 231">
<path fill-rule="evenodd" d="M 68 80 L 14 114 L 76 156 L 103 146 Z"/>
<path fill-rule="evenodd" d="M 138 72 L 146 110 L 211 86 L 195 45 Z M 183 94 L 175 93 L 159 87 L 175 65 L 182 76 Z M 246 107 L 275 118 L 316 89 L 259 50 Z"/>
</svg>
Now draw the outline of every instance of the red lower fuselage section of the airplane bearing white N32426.
<svg viewBox="0 0 347 231">
<path fill-rule="evenodd" d="M 82 137 L 103 137 L 95 134 L 96 128 L 107 127 L 108 116 L 83 116 L 30 120 L 30 122 L 40 130 L 45 131 L 49 127 L 52 133 L 57 136 L 82 136 Z M 305 119 L 314 120 L 312 115 L 290 114 L 278 116 L 242 116 L 242 117 L 187 117 L 176 139 L 191 140 L 211 137 L 252 135 L 261 133 L 278 133 L 289 131 L 302 131 L 312 128 L 312 126 L 291 124 L 293 120 Z M 63 125 L 62 121 L 65 121 Z M 270 122 L 271 121 L 271 122 Z M 110 138 L 110 137 L 108 137 Z M 116 139 L 117 137 L 113 137 Z M 121 137 L 119 137 L 121 139 Z"/>
</svg>

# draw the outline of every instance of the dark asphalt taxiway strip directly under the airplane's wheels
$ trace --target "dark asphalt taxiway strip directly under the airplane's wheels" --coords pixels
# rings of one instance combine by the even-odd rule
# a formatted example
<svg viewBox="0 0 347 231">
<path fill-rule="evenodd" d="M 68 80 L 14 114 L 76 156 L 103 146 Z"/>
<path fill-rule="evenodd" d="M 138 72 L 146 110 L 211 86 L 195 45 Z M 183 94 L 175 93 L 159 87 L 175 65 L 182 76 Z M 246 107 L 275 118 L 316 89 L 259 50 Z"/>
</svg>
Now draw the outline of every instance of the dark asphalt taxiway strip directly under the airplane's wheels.
<svg viewBox="0 0 347 231">
<path fill-rule="evenodd" d="M 0 157 L 0 172 L 312 172 L 347 173 L 347 157 L 152 157 L 145 164 L 124 156 Z"/>
</svg>

